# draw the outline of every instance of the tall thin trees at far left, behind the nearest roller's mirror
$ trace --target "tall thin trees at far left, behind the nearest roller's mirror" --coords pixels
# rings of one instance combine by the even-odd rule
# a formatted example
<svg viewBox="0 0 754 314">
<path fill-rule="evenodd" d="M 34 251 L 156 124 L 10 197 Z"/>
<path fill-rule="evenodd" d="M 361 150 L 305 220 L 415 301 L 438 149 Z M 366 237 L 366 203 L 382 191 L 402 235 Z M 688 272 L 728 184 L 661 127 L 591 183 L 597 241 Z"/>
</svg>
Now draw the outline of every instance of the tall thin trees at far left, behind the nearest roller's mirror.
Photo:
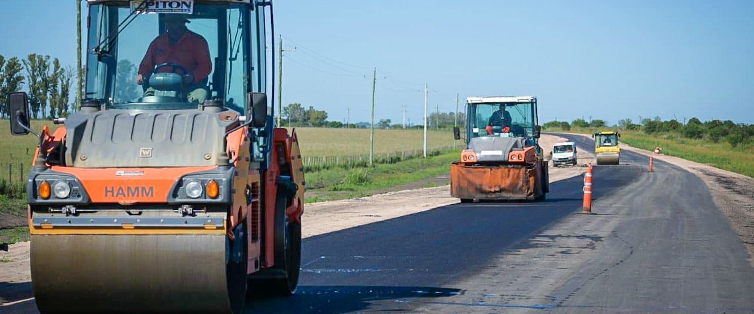
<svg viewBox="0 0 754 314">
<path fill-rule="evenodd" d="M 8 93 L 25 90 L 32 117 L 65 117 L 72 111 L 71 85 L 75 68 L 63 67 L 57 58 L 37 53 L 26 59 L 0 55 L 0 117 L 10 117 Z"/>
</svg>

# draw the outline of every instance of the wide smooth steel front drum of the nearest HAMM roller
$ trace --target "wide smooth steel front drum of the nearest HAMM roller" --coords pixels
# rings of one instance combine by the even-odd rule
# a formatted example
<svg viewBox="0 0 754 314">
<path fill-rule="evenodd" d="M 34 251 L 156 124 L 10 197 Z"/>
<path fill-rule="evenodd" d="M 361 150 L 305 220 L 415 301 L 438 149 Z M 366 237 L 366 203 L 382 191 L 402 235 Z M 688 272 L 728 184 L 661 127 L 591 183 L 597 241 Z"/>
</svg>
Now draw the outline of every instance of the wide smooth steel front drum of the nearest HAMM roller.
<svg viewBox="0 0 754 314">
<path fill-rule="evenodd" d="M 245 264 L 226 275 L 224 232 L 32 235 L 31 241 L 42 314 L 241 311 Z M 226 278 L 236 280 L 228 285 Z"/>
</svg>

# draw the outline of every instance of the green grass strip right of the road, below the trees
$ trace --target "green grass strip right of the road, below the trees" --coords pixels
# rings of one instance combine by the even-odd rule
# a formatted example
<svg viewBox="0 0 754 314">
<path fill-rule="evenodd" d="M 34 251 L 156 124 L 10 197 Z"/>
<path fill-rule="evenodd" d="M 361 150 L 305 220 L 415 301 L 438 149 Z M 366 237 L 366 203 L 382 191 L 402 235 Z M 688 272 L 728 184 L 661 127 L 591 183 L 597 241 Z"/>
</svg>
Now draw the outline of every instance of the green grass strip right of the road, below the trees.
<svg viewBox="0 0 754 314">
<path fill-rule="evenodd" d="M 612 130 L 605 128 L 605 130 Z M 590 134 L 595 130 L 571 129 L 569 131 L 547 129 L 547 132 L 570 132 Z M 740 145 L 736 148 L 728 142 L 711 142 L 708 139 L 686 139 L 674 133 L 648 135 L 641 131 L 621 130 L 621 142 L 635 148 L 654 151 L 662 148 L 663 154 L 685 160 L 705 163 L 720 169 L 740 173 L 754 178 L 754 145 Z"/>
</svg>

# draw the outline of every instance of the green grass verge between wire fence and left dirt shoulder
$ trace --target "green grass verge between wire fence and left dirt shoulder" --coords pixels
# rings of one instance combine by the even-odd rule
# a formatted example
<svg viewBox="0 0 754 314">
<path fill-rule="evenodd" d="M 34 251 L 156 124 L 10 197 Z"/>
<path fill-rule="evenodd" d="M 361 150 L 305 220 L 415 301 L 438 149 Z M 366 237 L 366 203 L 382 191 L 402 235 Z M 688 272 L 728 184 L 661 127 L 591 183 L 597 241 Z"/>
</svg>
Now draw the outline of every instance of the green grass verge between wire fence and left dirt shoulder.
<svg viewBox="0 0 754 314">
<path fill-rule="evenodd" d="M 306 203 L 344 200 L 363 197 L 400 187 L 435 187 L 431 181 L 438 175 L 450 173 L 450 164 L 457 161 L 460 151 L 448 151 L 437 156 L 381 164 L 372 168 L 332 168 L 306 173 Z"/>
</svg>

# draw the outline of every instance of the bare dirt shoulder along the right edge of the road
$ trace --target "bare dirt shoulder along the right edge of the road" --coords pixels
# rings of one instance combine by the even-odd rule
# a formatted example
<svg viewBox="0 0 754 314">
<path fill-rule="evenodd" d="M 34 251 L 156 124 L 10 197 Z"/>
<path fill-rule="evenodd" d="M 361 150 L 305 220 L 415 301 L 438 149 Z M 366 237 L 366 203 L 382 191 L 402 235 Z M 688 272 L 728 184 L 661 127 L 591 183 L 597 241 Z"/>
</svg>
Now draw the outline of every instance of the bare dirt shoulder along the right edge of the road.
<svg viewBox="0 0 754 314">
<path fill-rule="evenodd" d="M 679 157 L 654 154 L 624 143 L 621 143 L 621 148 L 672 163 L 701 178 L 710 188 L 715 203 L 728 217 L 741 242 L 749 249 L 749 255 L 754 257 L 754 178 Z M 754 258 L 749 260 L 754 267 Z"/>
</svg>

